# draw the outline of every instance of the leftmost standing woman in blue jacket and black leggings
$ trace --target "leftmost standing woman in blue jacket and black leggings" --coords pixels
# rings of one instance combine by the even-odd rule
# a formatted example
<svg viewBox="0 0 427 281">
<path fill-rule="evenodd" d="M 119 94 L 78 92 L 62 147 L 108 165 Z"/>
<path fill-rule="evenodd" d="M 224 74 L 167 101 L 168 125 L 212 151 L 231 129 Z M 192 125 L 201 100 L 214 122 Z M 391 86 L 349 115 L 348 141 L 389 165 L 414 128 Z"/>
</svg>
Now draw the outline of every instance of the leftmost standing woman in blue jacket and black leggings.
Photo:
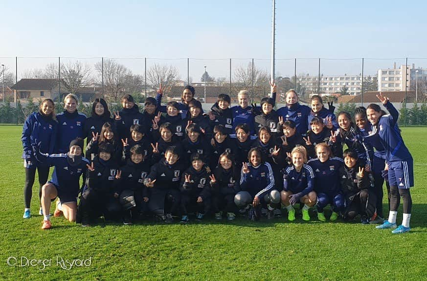
<svg viewBox="0 0 427 281">
<path fill-rule="evenodd" d="M 25 185 L 24 202 L 25 210 L 23 218 L 30 218 L 30 203 L 32 188 L 36 169 L 39 173 L 39 202 L 42 197 L 42 186 L 46 183 L 49 175 L 49 166 L 37 161 L 34 157 L 31 144 L 39 144 L 40 151 L 43 153 L 53 153 L 56 140 L 56 130 L 58 122 L 54 120 L 55 104 L 51 99 L 45 99 L 41 104 L 39 111 L 31 113 L 26 119 L 22 128 L 22 158 L 25 167 Z M 39 215 L 43 215 L 40 205 Z"/>
</svg>

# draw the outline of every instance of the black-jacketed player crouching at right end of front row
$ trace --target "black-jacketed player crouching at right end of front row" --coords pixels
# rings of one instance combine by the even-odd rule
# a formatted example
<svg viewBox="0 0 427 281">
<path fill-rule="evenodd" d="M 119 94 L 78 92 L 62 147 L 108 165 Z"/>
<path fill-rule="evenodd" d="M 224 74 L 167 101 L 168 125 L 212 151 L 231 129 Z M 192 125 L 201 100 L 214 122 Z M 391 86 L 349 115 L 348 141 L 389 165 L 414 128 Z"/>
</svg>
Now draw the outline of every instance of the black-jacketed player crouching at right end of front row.
<svg viewBox="0 0 427 281">
<path fill-rule="evenodd" d="M 369 172 L 365 172 L 364 165 L 358 161 L 358 155 L 352 150 L 343 153 L 344 167 L 339 170 L 341 191 L 345 196 L 344 219 L 353 219 L 361 216 L 361 223 L 368 224 L 376 210 L 377 197 L 369 190 Z"/>
</svg>

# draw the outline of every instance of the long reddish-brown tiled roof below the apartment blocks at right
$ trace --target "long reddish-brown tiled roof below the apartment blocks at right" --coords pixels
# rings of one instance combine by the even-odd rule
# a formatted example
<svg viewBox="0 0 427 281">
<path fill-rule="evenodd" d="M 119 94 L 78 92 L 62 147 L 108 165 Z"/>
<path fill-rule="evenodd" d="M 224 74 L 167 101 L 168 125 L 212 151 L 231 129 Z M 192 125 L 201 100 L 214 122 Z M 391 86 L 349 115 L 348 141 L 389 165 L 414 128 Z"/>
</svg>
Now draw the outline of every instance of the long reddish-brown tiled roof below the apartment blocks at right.
<svg viewBox="0 0 427 281">
<path fill-rule="evenodd" d="M 392 103 L 403 103 L 405 101 L 405 91 L 382 91 L 382 95 L 386 96 Z M 377 95 L 379 91 L 363 93 L 363 103 L 378 103 Z M 406 102 L 413 103 L 415 101 L 415 91 L 406 91 Z M 340 96 L 338 104 L 344 103 L 361 103 L 362 95 L 357 96 Z"/>
</svg>

